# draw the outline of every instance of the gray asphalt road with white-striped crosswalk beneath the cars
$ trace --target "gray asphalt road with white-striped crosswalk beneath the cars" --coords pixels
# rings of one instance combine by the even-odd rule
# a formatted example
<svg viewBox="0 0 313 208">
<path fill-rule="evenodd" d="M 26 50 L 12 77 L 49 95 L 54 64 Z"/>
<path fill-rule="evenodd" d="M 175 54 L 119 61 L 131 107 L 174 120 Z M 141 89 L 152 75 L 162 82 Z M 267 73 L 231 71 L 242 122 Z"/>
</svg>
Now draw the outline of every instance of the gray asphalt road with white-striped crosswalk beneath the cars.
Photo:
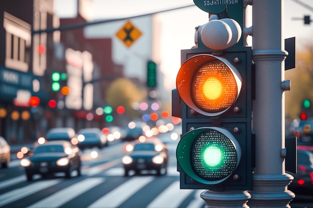
<svg viewBox="0 0 313 208">
<path fill-rule="evenodd" d="M 167 142 L 170 162 L 163 176 L 153 172 L 124 177 L 121 157 L 125 143 L 115 142 L 92 159 L 92 150 L 82 151 L 82 176 L 72 173 L 70 179 L 62 174 L 47 178 L 34 177 L 27 182 L 19 160 L 8 169 L 0 169 L 1 208 L 204 208 L 199 197 L 204 190 L 180 190 L 176 172 L 177 141 L 160 135 Z M 132 173 L 130 173 L 132 174 Z M 292 208 L 313 208 L 311 202 L 291 203 Z"/>
</svg>

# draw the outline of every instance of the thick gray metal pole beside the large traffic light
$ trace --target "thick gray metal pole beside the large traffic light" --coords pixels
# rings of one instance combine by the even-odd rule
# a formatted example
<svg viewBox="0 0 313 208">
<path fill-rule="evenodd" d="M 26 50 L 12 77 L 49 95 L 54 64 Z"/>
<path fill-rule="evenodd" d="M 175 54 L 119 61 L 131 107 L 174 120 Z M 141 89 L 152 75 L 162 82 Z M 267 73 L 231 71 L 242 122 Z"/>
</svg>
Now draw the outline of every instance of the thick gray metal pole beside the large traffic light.
<svg viewBox="0 0 313 208">
<path fill-rule="evenodd" d="M 286 190 L 292 177 L 285 174 L 283 0 L 253 0 L 252 49 L 255 63 L 255 169 L 250 208 L 289 208 L 294 194 Z"/>
</svg>

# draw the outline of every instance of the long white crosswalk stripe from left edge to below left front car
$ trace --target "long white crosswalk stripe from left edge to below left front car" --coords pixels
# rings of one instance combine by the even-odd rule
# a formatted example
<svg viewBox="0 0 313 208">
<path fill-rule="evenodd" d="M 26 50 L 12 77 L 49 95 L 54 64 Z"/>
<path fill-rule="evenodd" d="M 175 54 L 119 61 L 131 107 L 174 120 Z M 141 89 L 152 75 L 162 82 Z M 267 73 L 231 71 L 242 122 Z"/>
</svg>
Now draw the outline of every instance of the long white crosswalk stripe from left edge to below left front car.
<svg viewBox="0 0 313 208">
<path fill-rule="evenodd" d="M 53 186 L 57 183 L 60 183 L 62 180 L 48 180 L 48 181 L 40 181 L 30 184 L 28 186 L 12 190 L 5 194 L 0 195 L 0 207 L 6 205 L 8 203 L 14 202 L 21 198 L 27 197 L 33 193 L 39 192 L 43 189 L 46 189 L 50 186 Z"/>
</svg>

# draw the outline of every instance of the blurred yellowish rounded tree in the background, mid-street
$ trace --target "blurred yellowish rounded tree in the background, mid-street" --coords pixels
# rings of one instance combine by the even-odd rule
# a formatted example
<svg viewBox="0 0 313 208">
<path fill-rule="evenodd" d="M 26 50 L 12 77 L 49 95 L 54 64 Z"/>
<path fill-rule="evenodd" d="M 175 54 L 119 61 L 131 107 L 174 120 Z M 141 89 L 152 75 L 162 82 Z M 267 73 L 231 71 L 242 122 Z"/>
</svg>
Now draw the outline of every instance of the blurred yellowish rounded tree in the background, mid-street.
<svg viewBox="0 0 313 208">
<path fill-rule="evenodd" d="M 139 89 L 131 80 L 126 78 L 114 80 L 106 90 L 106 102 L 113 108 L 124 106 L 125 114 L 130 118 L 138 116 L 131 104 L 142 102 L 145 97 L 145 90 Z"/>
</svg>

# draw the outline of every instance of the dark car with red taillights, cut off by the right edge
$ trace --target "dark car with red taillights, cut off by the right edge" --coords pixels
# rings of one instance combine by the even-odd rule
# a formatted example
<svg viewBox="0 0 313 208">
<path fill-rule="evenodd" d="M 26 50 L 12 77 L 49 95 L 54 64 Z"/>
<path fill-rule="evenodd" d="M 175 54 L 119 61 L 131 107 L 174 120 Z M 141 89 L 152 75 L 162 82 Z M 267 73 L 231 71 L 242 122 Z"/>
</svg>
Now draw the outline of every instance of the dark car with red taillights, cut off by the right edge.
<svg viewBox="0 0 313 208">
<path fill-rule="evenodd" d="M 293 181 L 288 190 L 297 195 L 310 196 L 313 199 L 313 153 L 306 150 L 297 150 L 297 173 L 288 173 Z"/>
</svg>

